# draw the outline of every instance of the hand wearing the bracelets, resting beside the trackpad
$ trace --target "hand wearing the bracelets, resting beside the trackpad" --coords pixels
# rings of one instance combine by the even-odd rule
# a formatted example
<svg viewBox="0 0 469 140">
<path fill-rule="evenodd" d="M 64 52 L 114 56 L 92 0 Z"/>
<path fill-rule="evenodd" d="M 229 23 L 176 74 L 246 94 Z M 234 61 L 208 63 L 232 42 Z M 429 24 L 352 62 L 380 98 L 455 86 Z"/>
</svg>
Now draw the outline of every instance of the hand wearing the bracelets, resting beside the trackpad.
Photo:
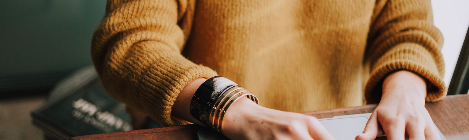
<svg viewBox="0 0 469 140">
<path fill-rule="evenodd" d="M 315 117 L 262 107 L 248 98 L 231 105 L 222 130 L 232 140 L 333 140 Z"/>
</svg>

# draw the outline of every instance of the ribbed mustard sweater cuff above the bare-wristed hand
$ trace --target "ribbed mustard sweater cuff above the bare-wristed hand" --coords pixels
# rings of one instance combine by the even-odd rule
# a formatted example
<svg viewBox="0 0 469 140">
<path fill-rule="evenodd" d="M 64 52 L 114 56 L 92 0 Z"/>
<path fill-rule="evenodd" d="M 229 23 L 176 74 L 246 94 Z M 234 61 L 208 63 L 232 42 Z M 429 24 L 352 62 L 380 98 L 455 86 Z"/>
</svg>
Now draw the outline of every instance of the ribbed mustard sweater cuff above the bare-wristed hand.
<svg viewBox="0 0 469 140">
<path fill-rule="evenodd" d="M 444 64 L 434 60 L 427 49 L 416 43 L 400 43 L 387 51 L 371 66 L 371 75 L 365 84 L 367 103 L 378 103 L 381 99 L 384 78 L 397 71 L 409 70 L 425 78 L 427 97 L 425 101 L 434 102 L 446 96 L 443 81 Z"/>
</svg>

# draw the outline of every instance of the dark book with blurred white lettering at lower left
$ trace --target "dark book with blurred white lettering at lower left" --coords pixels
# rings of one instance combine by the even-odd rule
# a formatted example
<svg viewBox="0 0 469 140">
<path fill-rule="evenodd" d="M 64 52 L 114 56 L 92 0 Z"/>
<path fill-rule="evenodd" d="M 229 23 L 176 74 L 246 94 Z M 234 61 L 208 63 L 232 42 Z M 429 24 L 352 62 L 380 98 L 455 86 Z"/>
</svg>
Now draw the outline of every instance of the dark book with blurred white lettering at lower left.
<svg viewBox="0 0 469 140">
<path fill-rule="evenodd" d="M 132 129 L 125 105 L 106 93 L 93 67 L 58 84 L 31 117 L 35 126 L 57 140 Z"/>
</svg>

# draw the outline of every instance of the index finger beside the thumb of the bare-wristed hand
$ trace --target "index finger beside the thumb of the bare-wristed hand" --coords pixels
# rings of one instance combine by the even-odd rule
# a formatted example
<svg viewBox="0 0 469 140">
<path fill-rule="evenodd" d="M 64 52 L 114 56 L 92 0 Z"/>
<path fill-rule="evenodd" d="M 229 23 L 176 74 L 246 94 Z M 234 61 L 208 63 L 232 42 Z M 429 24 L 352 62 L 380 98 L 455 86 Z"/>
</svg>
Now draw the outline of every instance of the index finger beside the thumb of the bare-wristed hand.
<svg viewBox="0 0 469 140">
<path fill-rule="evenodd" d="M 387 140 L 402 140 L 405 133 L 405 121 L 403 119 L 381 119 L 381 126 Z"/>
</svg>

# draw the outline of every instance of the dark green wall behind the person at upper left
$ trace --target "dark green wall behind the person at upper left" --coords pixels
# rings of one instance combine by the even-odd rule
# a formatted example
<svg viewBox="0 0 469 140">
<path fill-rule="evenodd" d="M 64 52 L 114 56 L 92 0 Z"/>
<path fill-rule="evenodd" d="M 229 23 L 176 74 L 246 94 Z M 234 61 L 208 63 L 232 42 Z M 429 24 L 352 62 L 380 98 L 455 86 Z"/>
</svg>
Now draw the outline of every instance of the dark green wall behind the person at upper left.
<svg viewBox="0 0 469 140">
<path fill-rule="evenodd" d="M 47 86 L 91 65 L 105 0 L 1 0 L 0 91 Z"/>
</svg>

